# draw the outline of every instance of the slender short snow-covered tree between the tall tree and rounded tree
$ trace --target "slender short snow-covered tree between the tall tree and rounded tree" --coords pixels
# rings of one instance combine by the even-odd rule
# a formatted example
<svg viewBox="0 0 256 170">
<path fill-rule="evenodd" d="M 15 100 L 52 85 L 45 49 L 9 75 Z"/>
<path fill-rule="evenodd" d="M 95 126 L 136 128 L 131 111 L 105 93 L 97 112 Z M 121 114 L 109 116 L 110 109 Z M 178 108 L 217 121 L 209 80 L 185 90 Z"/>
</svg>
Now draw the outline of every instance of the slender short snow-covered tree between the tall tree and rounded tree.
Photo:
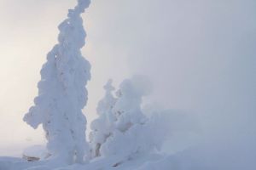
<svg viewBox="0 0 256 170">
<path fill-rule="evenodd" d="M 115 121 L 113 116 L 113 105 L 116 99 L 113 97 L 113 86 L 112 80 L 108 80 L 104 86 L 106 94 L 97 105 L 98 118 L 91 122 L 90 128 L 90 157 L 101 156 L 100 148 L 101 145 L 106 142 L 106 139 L 111 135 L 113 131 L 113 122 Z"/>
</svg>

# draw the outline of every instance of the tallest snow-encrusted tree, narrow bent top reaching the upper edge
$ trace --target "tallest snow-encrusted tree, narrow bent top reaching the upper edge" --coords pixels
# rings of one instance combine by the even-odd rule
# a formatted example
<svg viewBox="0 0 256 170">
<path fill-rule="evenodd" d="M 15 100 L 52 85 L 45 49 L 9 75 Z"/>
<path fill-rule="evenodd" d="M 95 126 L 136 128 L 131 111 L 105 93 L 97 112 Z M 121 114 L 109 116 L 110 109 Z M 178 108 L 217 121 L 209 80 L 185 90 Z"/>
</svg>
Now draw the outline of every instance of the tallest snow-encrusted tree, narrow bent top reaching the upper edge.
<svg viewBox="0 0 256 170">
<path fill-rule="evenodd" d="M 87 102 L 85 86 L 90 80 L 90 63 L 80 52 L 86 37 L 80 14 L 89 4 L 90 0 L 78 0 L 58 27 L 58 43 L 41 70 L 35 105 L 24 116 L 24 121 L 34 128 L 43 125 L 49 154 L 67 163 L 83 161 L 88 150 L 82 109 Z"/>
</svg>

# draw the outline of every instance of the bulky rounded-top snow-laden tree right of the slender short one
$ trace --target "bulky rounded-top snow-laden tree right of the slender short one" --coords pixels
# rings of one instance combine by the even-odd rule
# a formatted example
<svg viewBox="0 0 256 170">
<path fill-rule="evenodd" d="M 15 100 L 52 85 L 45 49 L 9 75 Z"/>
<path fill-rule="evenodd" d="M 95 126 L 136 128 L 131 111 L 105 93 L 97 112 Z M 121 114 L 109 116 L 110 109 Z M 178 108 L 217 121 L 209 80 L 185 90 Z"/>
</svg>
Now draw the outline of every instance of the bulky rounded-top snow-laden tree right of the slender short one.
<svg viewBox="0 0 256 170">
<path fill-rule="evenodd" d="M 146 125 L 148 118 L 141 109 L 143 96 L 150 89 L 150 83 L 145 80 L 144 77 L 136 76 L 120 84 L 118 99 L 112 111 L 116 121 L 111 136 L 102 144 L 102 156 L 131 156 L 144 151 L 147 142 L 150 143 L 146 136 L 150 134 Z"/>
</svg>

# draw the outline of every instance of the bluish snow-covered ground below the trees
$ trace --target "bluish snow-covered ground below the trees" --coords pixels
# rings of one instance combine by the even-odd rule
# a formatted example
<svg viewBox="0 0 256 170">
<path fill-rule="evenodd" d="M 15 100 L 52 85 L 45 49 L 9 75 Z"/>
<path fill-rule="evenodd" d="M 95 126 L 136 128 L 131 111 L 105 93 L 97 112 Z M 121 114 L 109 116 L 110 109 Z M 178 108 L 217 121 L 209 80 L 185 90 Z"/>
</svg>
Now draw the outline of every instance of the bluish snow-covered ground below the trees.
<svg viewBox="0 0 256 170">
<path fill-rule="evenodd" d="M 119 156 L 99 157 L 84 164 L 65 167 L 51 166 L 47 163 L 39 165 L 39 161 L 27 162 L 20 158 L 0 157 L 0 170 L 254 170 L 256 167 L 255 148 L 233 144 L 226 144 L 224 147 L 211 146 L 214 144 L 207 142 L 172 156 L 151 154 L 134 156 L 127 161 L 120 160 Z M 118 166 L 114 167 L 117 162 Z"/>
</svg>

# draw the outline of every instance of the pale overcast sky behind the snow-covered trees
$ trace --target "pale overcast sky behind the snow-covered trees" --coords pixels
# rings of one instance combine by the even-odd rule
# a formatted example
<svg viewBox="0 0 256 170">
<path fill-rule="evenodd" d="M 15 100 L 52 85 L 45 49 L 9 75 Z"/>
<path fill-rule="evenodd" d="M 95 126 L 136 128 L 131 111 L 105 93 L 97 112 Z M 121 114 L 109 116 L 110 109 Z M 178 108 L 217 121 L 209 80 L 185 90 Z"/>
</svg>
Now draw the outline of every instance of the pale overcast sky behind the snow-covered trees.
<svg viewBox="0 0 256 170">
<path fill-rule="evenodd" d="M 38 93 L 57 26 L 75 3 L 0 0 L 0 156 L 44 143 L 42 130 L 22 117 Z M 118 86 L 144 74 L 154 84 L 148 102 L 196 115 L 205 139 L 255 152 L 255 8 L 255 0 L 93 0 L 83 15 L 89 122 L 109 77 Z"/>
</svg>

